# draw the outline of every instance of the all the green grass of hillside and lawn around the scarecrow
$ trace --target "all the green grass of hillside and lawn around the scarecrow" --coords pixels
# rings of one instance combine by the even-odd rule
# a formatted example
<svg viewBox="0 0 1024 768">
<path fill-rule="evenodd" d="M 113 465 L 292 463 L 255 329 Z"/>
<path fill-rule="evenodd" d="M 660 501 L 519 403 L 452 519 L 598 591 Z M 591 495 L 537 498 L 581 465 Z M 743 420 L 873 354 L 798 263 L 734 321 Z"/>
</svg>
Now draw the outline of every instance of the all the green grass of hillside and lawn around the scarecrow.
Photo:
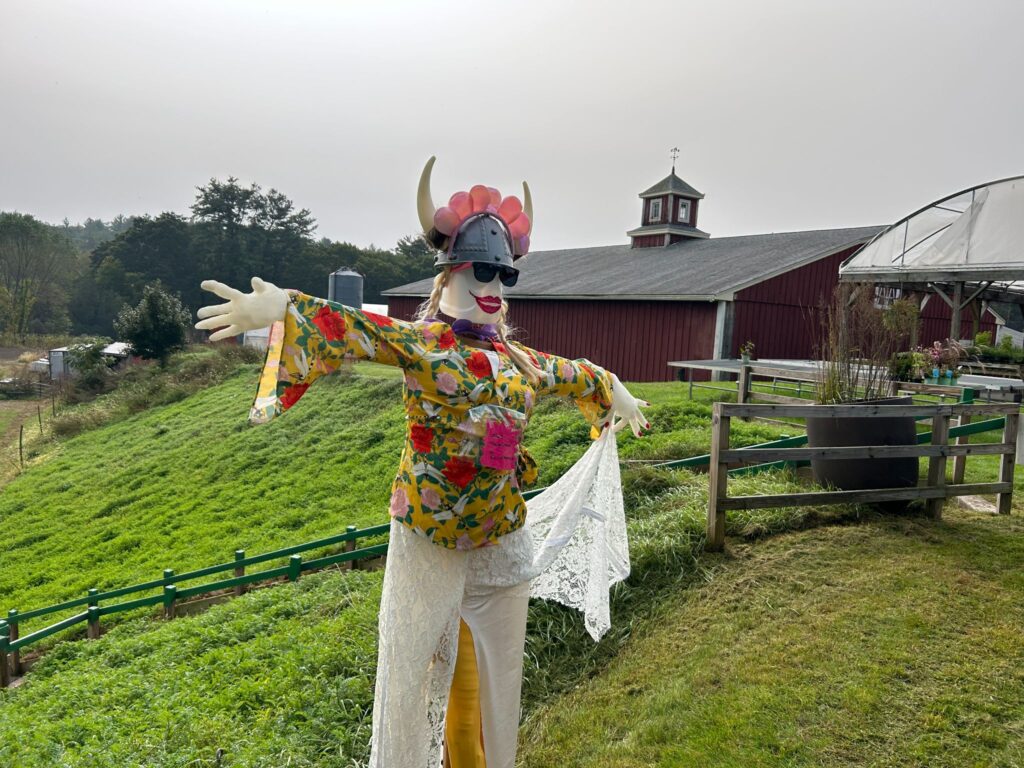
<svg viewBox="0 0 1024 768">
<path fill-rule="evenodd" d="M 0 525 L 16 532 L 0 545 L 0 607 L 384 520 L 399 382 L 357 370 L 261 428 L 245 425 L 248 368 L 58 443 L 0 496 Z M 706 400 L 675 384 L 635 391 L 654 403 L 654 429 L 622 437 L 624 460 L 707 450 Z M 779 431 L 737 422 L 733 439 Z M 586 429 L 547 402 L 527 443 L 547 482 L 585 450 Z M 730 515 L 739 545 L 708 557 L 707 478 L 627 466 L 633 574 L 613 594 L 611 632 L 594 644 L 572 612 L 530 608 L 524 765 L 1019 764 L 1017 519 L 760 510 Z M 784 474 L 734 482 L 796 487 Z M 836 524 L 784 532 L 823 521 Z M 379 572 L 324 572 L 58 643 L 0 692 L 0 765 L 357 765 L 379 591 Z"/>
</svg>

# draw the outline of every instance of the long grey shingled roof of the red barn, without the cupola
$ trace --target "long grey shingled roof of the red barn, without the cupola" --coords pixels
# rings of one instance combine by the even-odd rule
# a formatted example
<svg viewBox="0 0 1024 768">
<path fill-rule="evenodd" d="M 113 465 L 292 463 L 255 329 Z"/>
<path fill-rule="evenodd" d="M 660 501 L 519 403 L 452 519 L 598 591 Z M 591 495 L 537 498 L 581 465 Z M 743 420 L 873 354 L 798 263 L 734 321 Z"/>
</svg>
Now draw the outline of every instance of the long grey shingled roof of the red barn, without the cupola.
<svg viewBox="0 0 1024 768">
<path fill-rule="evenodd" d="M 728 300 L 744 288 L 865 243 L 882 228 L 686 240 L 664 248 L 625 244 L 537 251 L 518 261 L 519 282 L 505 294 L 519 299 Z M 384 294 L 427 296 L 432 283 L 422 280 Z"/>
</svg>

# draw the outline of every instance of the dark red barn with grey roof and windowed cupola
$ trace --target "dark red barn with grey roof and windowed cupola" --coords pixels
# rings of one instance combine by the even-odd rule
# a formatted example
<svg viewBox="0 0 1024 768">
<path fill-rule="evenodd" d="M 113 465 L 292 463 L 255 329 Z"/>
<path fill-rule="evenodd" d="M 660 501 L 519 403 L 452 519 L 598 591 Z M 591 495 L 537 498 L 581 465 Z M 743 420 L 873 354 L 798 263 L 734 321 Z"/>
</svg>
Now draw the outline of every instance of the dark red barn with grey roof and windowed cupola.
<svg viewBox="0 0 1024 768">
<path fill-rule="evenodd" d="M 735 357 L 748 340 L 759 357 L 811 357 L 817 308 L 840 262 L 882 229 L 711 238 L 696 226 L 703 195 L 675 169 L 640 199 L 630 243 L 537 251 L 517 262 L 519 282 L 505 291 L 518 339 L 630 381 L 672 379 L 669 360 Z M 412 317 L 430 287 L 385 291 L 390 314 Z M 931 342 L 927 316 L 944 307 L 927 305 L 923 342 Z M 945 309 L 945 326 L 934 325 L 948 329 L 948 316 Z"/>
</svg>

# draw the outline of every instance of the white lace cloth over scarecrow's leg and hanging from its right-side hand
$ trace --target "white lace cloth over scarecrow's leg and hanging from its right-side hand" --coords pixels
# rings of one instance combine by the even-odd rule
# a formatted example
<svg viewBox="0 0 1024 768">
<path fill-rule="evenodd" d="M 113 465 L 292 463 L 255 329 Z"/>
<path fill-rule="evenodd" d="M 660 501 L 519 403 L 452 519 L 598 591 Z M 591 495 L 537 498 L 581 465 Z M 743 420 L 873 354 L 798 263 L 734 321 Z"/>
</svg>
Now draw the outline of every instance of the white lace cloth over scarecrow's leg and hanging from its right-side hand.
<svg viewBox="0 0 1024 768">
<path fill-rule="evenodd" d="M 498 546 L 467 552 L 438 547 L 392 522 L 378 623 L 374 768 L 440 764 L 464 595 L 493 596 L 532 580 L 531 596 L 583 611 L 595 640 L 610 627 L 609 589 L 630 572 L 614 435 L 605 430 L 527 506 L 523 528 Z M 509 665 L 522 664 L 517 642 L 520 647 L 507 652 Z M 510 703 L 517 714 L 518 701 Z M 510 754 L 488 755 L 487 764 L 514 764 L 514 741 L 513 731 Z"/>
</svg>

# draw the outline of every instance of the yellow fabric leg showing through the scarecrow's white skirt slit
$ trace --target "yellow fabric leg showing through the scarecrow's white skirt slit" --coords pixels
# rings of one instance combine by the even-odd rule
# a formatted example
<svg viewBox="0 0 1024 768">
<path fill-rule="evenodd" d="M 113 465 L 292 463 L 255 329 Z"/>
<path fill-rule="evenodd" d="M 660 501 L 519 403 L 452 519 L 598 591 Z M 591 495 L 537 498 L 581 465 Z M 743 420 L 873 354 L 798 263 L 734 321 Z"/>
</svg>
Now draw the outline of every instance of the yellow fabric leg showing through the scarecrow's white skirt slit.
<svg viewBox="0 0 1024 768">
<path fill-rule="evenodd" d="M 444 718 L 447 768 L 486 768 L 480 729 L 480 680 L 476 671 L 473 633 L 459 623 L 459 655 Z"/>
</svg>

